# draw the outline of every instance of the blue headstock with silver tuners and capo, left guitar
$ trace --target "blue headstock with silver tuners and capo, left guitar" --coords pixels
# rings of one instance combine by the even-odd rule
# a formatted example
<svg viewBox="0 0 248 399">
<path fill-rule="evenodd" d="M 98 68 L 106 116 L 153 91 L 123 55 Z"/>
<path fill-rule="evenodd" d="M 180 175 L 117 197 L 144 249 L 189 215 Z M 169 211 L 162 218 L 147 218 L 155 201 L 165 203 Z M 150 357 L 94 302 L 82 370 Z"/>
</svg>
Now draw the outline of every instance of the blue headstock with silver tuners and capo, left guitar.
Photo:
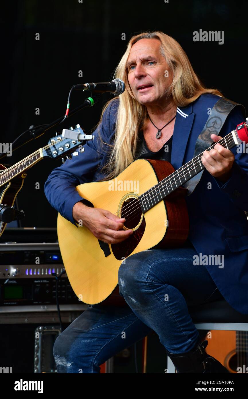
<svg viewBox="0 0 248 399">
<path fill-rule="evenodd" d="M 72 131 L 76 130 L 81 134 L 84 134 L 83 129 L 79 125 L 75 129 L 71 129 Z M 43 157 L 49 158 L 61 158 L 71 154 L 73 150 L 82 145 L 82 142 L 79 140 L 74 140 L 71 138 L 65 138 L 62 134 L 57 134 L 55 137 L 50 138 L 48 145 L 41 148 Z"/>
</svg>

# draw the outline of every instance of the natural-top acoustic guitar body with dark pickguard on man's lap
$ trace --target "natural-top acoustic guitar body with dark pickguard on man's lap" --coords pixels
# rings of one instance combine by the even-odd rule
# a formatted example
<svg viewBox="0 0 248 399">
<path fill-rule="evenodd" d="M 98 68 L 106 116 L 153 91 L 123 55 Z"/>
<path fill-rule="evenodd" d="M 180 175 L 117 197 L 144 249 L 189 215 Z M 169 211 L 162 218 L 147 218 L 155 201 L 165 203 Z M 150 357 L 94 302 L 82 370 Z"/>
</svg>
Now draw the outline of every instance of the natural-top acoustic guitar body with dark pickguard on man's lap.
<svg viewBox="0 0 248 399">
<path fill-rule="evenodd" d="M 70 284 L 81 301 L 97 304 L 105 300 L 118 284 L 118 269 L 128 256 L 151 248 L 180 246 L 185 242 L 189 217 L 180 191 L 171 193 L 144 214 L 138 206 L 137 197 L 172 172 L 174 169 L 169 162 L 139 159 L 114 180 L 77 186 L 77 192 L 94 207 L 122 217 L 124 214 L 127 219 L 124 229 L 134 231 L 122 243 L 104 244 L 87 227 L 77 227 L 58 215 L 57 232 L 63 263 Z M 133 183 L 131 189 L 130 182 Z M 178 190 L 181 194 L 185 191 Z M 130 201 L 137 202 L 137 206 L 127 217 L 123 207 L 130 207 Z"/>
</svg>

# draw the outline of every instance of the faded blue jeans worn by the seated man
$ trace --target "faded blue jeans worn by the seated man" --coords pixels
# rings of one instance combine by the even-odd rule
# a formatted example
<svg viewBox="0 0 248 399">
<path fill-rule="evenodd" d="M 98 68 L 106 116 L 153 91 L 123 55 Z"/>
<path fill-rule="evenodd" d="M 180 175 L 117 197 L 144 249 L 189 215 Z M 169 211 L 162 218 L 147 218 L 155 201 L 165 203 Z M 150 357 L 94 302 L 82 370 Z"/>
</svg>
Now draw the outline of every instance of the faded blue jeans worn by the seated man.
<svg viewBox="0 0 248 399">
<path fill-rule="evenodd" d="M 59 373 L 99 373 L 100 364 L 153 330 L 168 352 L 199 342 L 188 307 L 222 298 L 205 266 L 193 265 L 195 249 L 150 249 L 120 266 L 120 295 L 128 306 L 89 305 L 56 339 Z"/>
</svg>

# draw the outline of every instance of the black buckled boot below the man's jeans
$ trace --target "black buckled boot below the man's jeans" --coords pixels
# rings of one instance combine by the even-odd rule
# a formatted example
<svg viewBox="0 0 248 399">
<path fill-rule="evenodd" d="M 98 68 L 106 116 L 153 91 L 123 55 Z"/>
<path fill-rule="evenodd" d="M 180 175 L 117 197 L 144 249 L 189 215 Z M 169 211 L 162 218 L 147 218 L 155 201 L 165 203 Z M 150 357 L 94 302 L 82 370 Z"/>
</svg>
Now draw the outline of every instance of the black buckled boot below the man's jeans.
<svg viewBox="0 0 248 399">
<path fill-rule="evenodd" d="M 174 354 L 167 352 L 177 373 L 229 373 L 226 367 L 222 366 L 217 359 L 205 352 L 207 344 L 208 342 L 205 340 L 186 353 Z"/>
</svg>

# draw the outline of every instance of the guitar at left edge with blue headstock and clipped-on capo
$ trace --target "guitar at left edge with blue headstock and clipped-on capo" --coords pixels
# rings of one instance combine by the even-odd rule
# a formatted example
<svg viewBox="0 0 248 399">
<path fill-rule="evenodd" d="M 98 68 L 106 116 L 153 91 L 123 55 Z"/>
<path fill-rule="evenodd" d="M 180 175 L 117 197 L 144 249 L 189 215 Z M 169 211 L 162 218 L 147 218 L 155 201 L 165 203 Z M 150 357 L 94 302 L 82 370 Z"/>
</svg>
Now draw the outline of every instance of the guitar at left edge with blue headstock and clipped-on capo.
<svg viewBox="0 0 248 399">
<path fill-rule="evenodd" d="M 77 133 L 84 134 L 79 125 L 73 130 Z M 21 190 L 24 179 L 26 178 L 26 170 L 37 164 L 44 158 L 61 158 L 71 154 L 81 144 L 80 141 L 71 140 L 63 136 L 52 137 L 48 145 L 33 152 L 17 164 L 6 168 L 0 164 L 0 203 L 3 205 L 13 206 L 18 192 Z M 75 153 L 77 155 L 77 152 Z M 7 223 L 0 221 L 0 236 L 4 232 Z"/>
</svg>

